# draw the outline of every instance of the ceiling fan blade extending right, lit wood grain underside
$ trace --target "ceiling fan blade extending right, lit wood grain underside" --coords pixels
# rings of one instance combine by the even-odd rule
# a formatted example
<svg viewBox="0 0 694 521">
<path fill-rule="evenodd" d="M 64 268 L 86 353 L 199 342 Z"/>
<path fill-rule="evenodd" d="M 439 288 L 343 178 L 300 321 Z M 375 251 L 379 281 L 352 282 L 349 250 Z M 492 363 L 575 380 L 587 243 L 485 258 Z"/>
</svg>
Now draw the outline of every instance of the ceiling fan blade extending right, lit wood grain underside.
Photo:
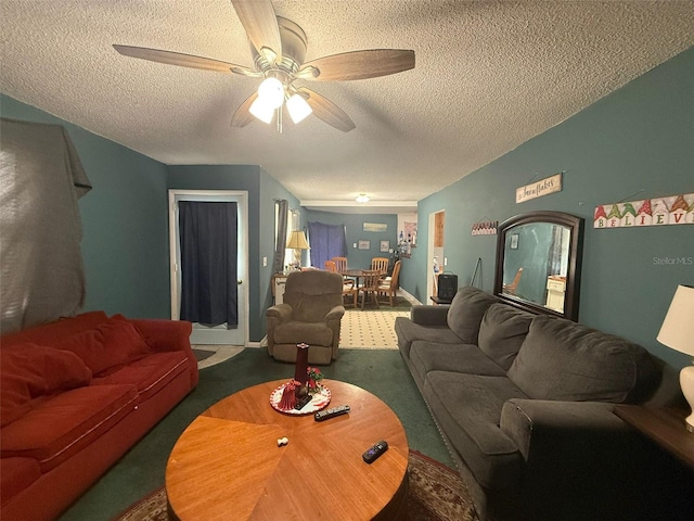
<svg viewBox="0 0 694 521">
<path fill-rule="evenodd" d="M 414 68 L 414 51 L 370 49 L 312 60 L 301 66 L 296 77 L 317 81 L 344 81 L 376 78 L 410 68 Z M 318 69 L 318 75 L 316 69 Z"/>
</svg>

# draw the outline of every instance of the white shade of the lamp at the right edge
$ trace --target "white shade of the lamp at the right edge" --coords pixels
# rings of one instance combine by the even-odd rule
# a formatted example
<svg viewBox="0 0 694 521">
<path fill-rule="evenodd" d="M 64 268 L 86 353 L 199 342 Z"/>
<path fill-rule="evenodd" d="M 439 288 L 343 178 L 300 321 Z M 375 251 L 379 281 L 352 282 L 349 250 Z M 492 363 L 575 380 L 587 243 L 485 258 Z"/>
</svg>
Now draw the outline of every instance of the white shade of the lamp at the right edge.
<svg viewBox="0 0 694 521">
<path fill-rule="evenodd" d="M 694 356 L 694 288 L 678 285 L 657 339 L 674 351 Z"/>
</svg>

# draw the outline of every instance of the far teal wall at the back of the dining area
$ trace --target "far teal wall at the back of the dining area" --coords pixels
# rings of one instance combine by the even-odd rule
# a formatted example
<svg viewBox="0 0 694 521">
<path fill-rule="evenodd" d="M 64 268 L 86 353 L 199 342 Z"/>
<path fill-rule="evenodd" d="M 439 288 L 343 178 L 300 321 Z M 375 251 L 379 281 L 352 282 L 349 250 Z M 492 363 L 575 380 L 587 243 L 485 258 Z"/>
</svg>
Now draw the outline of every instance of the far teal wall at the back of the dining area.
<svg viewBox="0 0 694 521">
<path fill-rule="evenodd" d="M 308 211 L 309 223 L 324 225 L 344 225 L 347 238 L 347 265 L 350 268 L 369 268 L 372 257 L 389 257 L 388 253 L 381 253 L 381 241 L 389 241 L 395 249 L 398 240 L 398 216 L 384 214 L 337 214 L 333 212 Z M 386 231 L 363 231 L 364 223 L 385 224 Z M 371 241 L 369 250 L 359 250 L 354 244 L 359 240 Z M 321 266 L 317 266 L 321 267 Z"/>
</svg>

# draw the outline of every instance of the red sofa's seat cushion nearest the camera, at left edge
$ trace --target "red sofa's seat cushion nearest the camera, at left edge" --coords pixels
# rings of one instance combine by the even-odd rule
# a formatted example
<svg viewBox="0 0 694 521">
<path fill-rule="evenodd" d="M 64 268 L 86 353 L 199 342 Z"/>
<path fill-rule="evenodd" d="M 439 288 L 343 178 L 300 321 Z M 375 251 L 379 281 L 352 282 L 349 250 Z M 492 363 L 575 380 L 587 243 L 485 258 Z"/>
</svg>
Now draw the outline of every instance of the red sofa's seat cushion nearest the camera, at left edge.
<svg viewBox="0 0 694 521">
<path fill-rule="evenodd" d="M 47 397 L 2 429 L 0 456 L 35 458 L 48 472 L 99 439 L 138 403 L 134 385 L 89 385 Z"/>
</svg>

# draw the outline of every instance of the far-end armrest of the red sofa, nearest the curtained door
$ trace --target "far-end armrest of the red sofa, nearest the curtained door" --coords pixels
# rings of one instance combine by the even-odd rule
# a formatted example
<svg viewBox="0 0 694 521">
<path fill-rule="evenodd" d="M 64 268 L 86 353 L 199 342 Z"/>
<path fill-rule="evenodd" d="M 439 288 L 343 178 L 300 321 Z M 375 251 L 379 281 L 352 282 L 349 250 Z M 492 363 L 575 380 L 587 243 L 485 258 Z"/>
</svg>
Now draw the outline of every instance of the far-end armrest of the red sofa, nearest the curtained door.
<svg viewBox="0 0 694 521">
<path fill-rule="evenodd" d="M 129 321 L 140 332 L 150 348 L 156 353 L 182 351 L 190 364 L 191 387 L 197 385 L 197 358 L 191 348 L 193 325 L 187 320 L 131 318 Z"/>
</svg>

